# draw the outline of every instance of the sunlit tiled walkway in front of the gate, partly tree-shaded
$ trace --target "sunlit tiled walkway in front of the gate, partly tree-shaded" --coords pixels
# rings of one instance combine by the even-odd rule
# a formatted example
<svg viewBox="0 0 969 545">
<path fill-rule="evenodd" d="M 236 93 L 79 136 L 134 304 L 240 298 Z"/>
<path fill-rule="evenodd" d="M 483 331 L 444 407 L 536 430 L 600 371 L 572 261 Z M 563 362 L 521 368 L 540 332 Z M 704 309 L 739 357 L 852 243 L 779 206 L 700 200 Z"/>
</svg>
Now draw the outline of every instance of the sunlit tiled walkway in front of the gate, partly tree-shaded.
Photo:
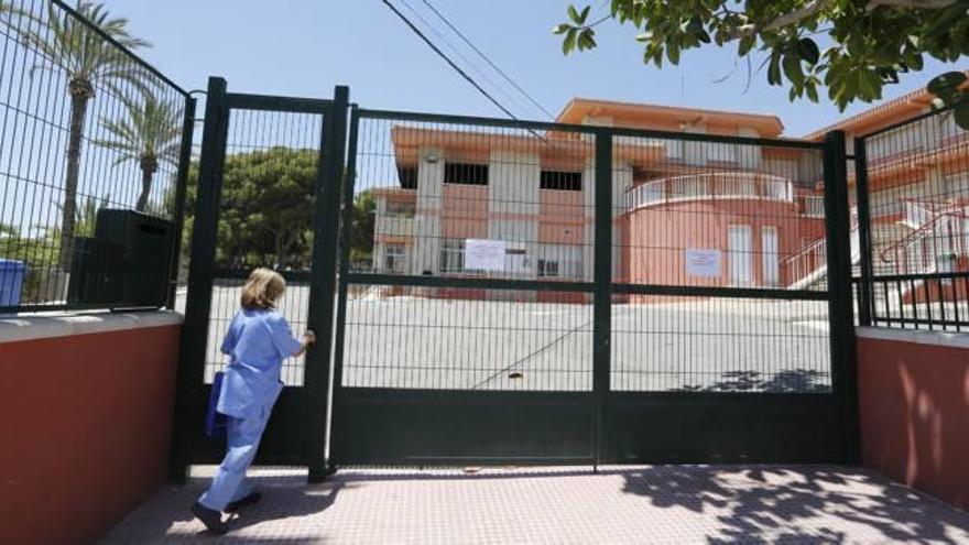
<svg viewBox="0 0 969 545">
<path fill-rule="evenodd" d="M 216 541 L 188 515 L 206 486 L 160 491 L 104 543 Z M 236 543 L 967 543 L 969 514 L 839 467 L 262 469 Z"/>
</svg>

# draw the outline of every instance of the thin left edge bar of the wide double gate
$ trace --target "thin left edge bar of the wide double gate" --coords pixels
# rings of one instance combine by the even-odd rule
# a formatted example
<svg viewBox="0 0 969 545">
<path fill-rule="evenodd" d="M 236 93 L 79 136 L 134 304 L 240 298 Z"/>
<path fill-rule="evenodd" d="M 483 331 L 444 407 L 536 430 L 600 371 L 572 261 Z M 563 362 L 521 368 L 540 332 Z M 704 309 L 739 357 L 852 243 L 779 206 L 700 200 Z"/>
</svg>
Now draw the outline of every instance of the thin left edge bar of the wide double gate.
<svg viewBox="0 0 969 545">
<path fill-rule="evenodd" d="M 340 222 L 340 262 L 339 262 L 339 293 L 337 294 L 337 323 L 336 334 L 334 335 L 334 359 L 333 359 L 333 392 L 330 404 L 330 423 L 333 423 L 337 411 L 337 400 L 340 399 L 340 389 L 342 388 L 344 377 L 344 340 L 347 333 L 347 290 L 349 282 L 347 275 L 350 273 L 350 244 L 353 240 L 353 192 L 357 183 L 357 135 L 360 127 L 360 118 L 357 113 L 357 107 L 353 106 L 350 116 L 350 137 L 347 144 L 347 174 L 344 176 L 344 207 L 342 220 Z M 336 426 L 330 424 L 330 453 L 334 451 L 334 445 L 340 439 L 334 434 Z"/>
</svg>

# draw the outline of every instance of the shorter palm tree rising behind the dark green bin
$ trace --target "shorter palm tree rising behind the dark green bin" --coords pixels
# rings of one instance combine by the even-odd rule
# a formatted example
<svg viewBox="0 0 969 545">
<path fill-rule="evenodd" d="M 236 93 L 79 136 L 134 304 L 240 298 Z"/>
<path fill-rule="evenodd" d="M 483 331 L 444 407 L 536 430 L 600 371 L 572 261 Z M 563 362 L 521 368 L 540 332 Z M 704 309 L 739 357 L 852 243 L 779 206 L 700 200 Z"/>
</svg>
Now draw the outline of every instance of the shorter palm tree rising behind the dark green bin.
<svg viewBox="0 0 969 545">
<path fill-rule="evenodd" d="M 144 211 L 151 194 L 152 181 L 162 162 L 177 164 L 182 144 L 182 127 L 178 107 L 168 100 L 145 95 L 142 103 L 124 100 L 126 119 L 101 118 L 101 127 L 111 134 L 110 140 L 95 143 L 118 152 L 116 165 L 134 161 L 141 167 L 141 195 L 134 209 Z"/>
</svg>

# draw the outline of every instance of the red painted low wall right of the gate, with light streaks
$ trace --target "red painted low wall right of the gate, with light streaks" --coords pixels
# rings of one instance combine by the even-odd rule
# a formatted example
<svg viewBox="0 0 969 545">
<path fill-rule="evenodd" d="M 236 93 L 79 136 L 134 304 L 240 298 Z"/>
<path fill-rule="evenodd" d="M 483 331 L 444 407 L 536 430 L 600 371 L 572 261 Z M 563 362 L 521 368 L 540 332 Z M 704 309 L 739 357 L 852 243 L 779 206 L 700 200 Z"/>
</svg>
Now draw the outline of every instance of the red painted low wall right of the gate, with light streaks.
<svg viewBox="0 0 969 545">
<path fill-rule="evenodd" d="M 969 510 L 969 349 L 858 339 L 864 465 Z"/>
</svg>

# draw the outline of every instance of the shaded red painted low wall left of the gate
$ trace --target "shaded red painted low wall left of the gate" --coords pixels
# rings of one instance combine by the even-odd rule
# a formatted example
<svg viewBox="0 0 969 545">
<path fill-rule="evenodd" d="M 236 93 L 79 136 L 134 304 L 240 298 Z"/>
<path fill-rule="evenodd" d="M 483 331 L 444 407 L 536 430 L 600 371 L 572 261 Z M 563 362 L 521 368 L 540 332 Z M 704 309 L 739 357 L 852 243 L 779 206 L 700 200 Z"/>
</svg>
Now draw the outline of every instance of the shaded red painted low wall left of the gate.
<svg viewBox="0 0 969 545">
<path fill-rule="evenodd" d="M 90 543 L 165 480 L 179 330 L 0 344 L 0 542 Z"/>
</svg>

